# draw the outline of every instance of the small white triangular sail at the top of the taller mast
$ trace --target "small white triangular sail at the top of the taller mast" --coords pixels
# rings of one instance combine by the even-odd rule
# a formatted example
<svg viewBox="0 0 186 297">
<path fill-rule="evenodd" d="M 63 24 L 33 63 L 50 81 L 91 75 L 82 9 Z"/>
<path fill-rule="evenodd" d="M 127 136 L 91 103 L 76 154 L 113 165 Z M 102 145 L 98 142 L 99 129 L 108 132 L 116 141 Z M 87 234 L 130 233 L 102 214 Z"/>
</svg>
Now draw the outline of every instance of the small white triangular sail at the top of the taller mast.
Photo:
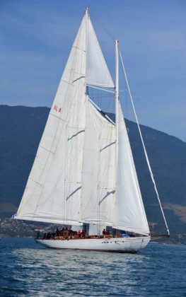
<svg viewBox="0 0 186 297">
<path fill-rule="evenodd" d="M 86 83 L 91 86 L 114 88 L 107 64 L 100 50 L 91 19 L 87 23 Z"/>
</svg>

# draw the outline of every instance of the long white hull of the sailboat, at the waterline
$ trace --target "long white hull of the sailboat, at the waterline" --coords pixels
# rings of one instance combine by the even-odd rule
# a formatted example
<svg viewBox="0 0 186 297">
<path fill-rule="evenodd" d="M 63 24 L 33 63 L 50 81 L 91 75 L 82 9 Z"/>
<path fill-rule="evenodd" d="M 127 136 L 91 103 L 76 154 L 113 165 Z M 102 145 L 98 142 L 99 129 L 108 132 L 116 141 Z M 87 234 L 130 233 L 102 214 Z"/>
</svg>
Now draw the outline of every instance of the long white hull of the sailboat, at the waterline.
<svg viewBox="0 0 186 297">
<path fill-rule="evenodd" d="M 76 240 L 42 240 L 37 239 L 37 243 L 45 245 L 47 248 L 64 250 L 94 250 L 98 252 L 138 252 L 151 240 L 150 236 L 136 238 L 96 238 L 96 239 L 76 239 Z"/>
</svg>

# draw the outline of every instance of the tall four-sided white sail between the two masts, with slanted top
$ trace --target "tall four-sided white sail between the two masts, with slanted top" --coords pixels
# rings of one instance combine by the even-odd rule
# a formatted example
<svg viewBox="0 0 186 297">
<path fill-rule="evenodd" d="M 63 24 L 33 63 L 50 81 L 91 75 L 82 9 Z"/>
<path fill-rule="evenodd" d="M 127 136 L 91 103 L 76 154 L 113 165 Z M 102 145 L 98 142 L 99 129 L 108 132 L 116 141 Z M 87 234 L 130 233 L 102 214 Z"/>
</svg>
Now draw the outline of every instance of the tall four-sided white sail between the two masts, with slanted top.
<svg viewBox="0 0 186 297">
<path fill-rule="evenodd" d="M 87 101 L 81 219 L 112 226 L 115 202 L 115 125 Z"/>
</svg>

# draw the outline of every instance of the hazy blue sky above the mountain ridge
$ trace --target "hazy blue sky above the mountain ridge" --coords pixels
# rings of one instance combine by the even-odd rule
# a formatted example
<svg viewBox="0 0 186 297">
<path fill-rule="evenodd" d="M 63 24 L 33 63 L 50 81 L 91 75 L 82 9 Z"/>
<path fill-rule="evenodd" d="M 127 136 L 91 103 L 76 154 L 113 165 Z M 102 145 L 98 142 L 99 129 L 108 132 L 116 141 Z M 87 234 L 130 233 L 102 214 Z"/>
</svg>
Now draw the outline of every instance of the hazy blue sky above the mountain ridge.
<svg viewBox="0 0 186 297">
<path fill-rule="evenodd" d="M 86 6 L 113 78 L 120 40 L 139 122 L 186 141 L 185 0 L 0 0 L 0 104 L 52 105 Z"/>
</svg>

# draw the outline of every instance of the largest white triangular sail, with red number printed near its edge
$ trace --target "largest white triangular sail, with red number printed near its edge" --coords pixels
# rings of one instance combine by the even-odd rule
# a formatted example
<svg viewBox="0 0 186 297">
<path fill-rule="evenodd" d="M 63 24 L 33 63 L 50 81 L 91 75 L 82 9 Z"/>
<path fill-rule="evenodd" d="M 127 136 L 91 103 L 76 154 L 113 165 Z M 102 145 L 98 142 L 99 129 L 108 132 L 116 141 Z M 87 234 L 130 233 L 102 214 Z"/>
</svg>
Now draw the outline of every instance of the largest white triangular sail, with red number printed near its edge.
<svg viewBox="0 0 186 297">
<path fill-rule="evenodd" d="M 86 16 L 59 83 L 17 219 L 81 224 L 85 75 Z"/>
</svg>

